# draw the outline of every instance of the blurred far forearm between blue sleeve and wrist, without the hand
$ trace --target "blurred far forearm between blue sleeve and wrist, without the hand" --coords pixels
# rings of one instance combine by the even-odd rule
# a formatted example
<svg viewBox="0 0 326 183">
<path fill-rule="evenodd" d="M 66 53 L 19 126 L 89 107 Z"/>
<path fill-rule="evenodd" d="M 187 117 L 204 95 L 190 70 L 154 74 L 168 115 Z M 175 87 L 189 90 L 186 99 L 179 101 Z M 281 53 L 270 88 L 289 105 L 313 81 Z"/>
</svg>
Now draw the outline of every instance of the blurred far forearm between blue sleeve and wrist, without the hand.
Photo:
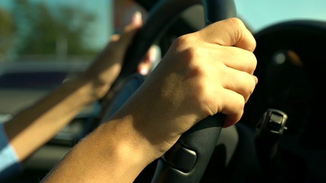
<svg viewBox="0 0 326 183">
<path fill-rule="evenodd" d="M 18 113 L 5 124 L 5 131 L 19 159 L 31 155 L 95 99 L 94 84 L 78 78 Z"/>
</svg>

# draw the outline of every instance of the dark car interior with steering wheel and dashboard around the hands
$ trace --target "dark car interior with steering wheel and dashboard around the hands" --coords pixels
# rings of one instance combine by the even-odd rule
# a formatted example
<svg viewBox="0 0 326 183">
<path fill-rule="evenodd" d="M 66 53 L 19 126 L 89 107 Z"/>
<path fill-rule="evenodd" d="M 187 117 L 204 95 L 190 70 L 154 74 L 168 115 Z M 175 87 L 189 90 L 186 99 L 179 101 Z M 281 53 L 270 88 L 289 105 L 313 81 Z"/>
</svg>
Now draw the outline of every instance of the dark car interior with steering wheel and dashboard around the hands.
<svg viewBox="0 0 326 183">
<path fill-rule="evenodd" d="M 146 80 L 135 71 L 151 45 L 164 56 L 177 37 L 237 16 L 231 0 L 137 2 L 149 12 L 148 18 L 127 51 L 113 89 L 98 101 L 100 115 L 76 118 L 65 134 L 23 162 L 24 171 L 8 182 L 39 181 L 78 139 L 110 118 Z M 326 125 L 321 116 L 326 102 L 326 22 L 279 22 L 254 37 L 259 83 L 240 121 L 226 129 L 223 114 L 200 121 L 134 182 L 326 181 Z M 77 140 L 60 140 L 66 136 Z"/>
</svg>

